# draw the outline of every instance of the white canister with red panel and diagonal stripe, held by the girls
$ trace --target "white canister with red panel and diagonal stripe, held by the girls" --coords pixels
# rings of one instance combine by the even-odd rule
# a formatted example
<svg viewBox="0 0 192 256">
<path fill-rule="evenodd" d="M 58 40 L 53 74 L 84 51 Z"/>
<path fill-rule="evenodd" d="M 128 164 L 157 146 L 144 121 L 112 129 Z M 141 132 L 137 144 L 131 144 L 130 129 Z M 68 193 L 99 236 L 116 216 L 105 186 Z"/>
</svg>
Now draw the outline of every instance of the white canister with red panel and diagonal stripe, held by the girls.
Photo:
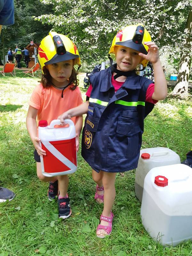
<svg viewBox="0 0 192 256">
<path fill-rule="evenodd" d="M 39 121 L 40 145 L 46 151 L 41 157 L 41 168 L 44 176 L 52 177 L 73 173 L 77 169 L 76 131 L 72 120 L 66 119 L 68 126 L 54 128 L 61 124 L 60 119 Z"/>
</svg>

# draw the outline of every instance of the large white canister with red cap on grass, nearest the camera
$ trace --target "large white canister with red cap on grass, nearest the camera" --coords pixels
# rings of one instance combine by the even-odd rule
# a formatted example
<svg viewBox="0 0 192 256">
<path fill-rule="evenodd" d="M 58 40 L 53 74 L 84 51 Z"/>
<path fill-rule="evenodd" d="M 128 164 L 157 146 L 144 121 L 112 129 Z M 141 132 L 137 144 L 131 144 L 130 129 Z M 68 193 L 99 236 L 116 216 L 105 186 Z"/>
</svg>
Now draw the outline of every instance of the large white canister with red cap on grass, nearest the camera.
<svg viewBox="0 0 192 256">
<path fill-rule="evenodd" d="M 145 177 L 141 220 L 164 246 L 192 239 L 192 171 L 184 164 L 151 169 Z"/>
</svg>

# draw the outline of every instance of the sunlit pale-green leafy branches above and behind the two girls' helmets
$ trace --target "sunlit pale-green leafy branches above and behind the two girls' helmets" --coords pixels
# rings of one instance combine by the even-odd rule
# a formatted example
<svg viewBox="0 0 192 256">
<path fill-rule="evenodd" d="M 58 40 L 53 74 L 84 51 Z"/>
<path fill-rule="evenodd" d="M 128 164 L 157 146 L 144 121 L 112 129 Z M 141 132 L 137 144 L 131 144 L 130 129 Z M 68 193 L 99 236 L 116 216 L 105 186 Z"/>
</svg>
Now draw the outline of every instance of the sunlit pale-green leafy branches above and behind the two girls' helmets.
<svg viewBox="0 0 192 256">
<path fill-rule="evenodd" d="M 141 22 L 152 40 L 161 48 L 175 52 L 186 37 L 185 25 L 190 2 L 170 0 L 41 0 L 53 5 L 53 14 L 36 17 L 51 24 L 57 32 L 68 35 L 77 44 L 81 57 L 90 63 L 106 59 L 117 30 Z"/>
</svg>

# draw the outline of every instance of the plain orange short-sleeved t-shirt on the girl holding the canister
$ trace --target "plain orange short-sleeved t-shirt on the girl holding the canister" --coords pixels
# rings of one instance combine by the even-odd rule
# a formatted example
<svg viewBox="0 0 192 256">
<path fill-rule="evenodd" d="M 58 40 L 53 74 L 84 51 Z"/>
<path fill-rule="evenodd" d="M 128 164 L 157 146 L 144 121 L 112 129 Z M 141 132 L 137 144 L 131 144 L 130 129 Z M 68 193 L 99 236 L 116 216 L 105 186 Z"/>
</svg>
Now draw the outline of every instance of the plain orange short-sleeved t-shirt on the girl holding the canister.
<svg viewBox="0 0 192 256">
<path fill-rule="evenodd" d="M 44 88 L 42 84 L 38 84 L 32 92 L 29 105 L 38 109 L 37 127 L 40 120 L 47 120 L 48 125 L 52 120 L 57 119 L 59 115 L 70 108 L 75 108 L 83 103 L 81 92 L 77 86 L 75 90 L 69 89 L 69 86 L 63 91 L 61 98 L 61 89 L 53 86 Z M 76 116 L 71 120 L 76 123 Z"/>
</svg>

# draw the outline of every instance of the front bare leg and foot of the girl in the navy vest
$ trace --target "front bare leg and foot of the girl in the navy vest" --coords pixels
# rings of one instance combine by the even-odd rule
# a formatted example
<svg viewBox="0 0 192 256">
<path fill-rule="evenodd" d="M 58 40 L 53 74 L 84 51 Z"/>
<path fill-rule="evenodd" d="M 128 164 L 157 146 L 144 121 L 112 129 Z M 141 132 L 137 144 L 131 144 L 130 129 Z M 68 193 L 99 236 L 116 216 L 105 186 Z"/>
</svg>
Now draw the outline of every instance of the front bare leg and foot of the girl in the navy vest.
<svg viewBox="0 0 192 256">
<path fill-rule="evenodd" d="M 100 171 L 103 172 L 103 171 Z M 103 187 L 105 190 L 104 193 L 104 208 L 103 208 L 103 216 L 110 217 L 110 212 L 113 207 L 113 203 L 115 200 L 116 196 L 116 191 L 115 191 L 115 177 L 116 173 L 114 172 L 103 172 Z M 108 222 L 101 220 L 100 222 L 101 225 L 108 226 Z M 97 235 L 102 235 L 104 236 L 107 234 L 106 230 L 100 229 L 97 231 Z"/>
</svg>

